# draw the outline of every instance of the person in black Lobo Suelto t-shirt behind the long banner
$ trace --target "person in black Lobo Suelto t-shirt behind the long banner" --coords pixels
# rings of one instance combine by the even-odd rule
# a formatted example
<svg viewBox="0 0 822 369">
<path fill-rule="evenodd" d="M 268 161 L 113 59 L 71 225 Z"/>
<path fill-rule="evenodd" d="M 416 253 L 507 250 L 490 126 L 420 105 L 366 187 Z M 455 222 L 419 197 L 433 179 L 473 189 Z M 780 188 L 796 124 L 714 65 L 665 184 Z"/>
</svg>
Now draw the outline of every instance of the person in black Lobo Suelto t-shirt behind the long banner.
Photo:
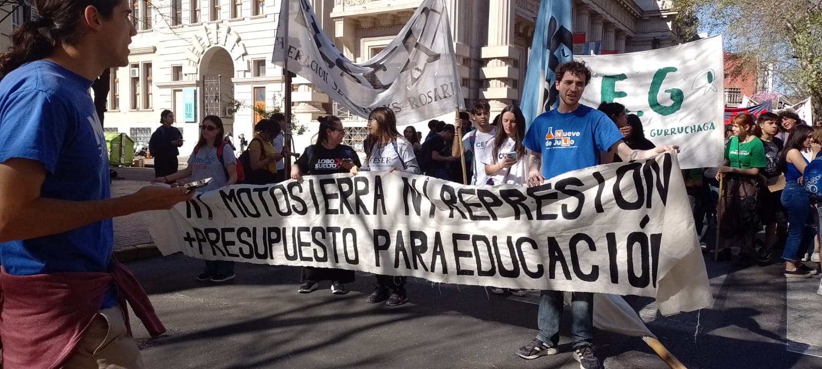
<svg viewBox="0 0 822 369">
<path fill-rule="evenodd" d="M 357 174 L 357 168 L 361 164 L 357 152 L 343 144 L 343 123 L 336 116 L 321 116 L 317 121 L 320 122 L 320 130 L 316 144 L 308 146 L 291 167 L 291 178 L 302 181 L 302 175 Z M 303 266 L 300 280 L 300 294 L 316 291 L 321 280 L 331 281 L 332 294 L 348 294 L 345 284 L 353 283 L 354 271 Z"/>
</svg>

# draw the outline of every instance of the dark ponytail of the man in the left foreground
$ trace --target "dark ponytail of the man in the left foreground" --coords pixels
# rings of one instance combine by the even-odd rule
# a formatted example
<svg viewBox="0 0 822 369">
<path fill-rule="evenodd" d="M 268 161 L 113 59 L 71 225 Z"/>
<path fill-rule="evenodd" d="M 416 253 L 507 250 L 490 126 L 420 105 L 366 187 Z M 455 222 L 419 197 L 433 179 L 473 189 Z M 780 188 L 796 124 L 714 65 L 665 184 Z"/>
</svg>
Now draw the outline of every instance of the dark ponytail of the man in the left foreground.
<svg viewBox="0 0 822 369">
<path fill-rule="evenodd" d="M 0 55 L 0 80 L 27 62 L 47 57 L 54 49 L 53 22 L 45 18 L 23 23 L 12 34 L 12 46 Z"/>
</svg>

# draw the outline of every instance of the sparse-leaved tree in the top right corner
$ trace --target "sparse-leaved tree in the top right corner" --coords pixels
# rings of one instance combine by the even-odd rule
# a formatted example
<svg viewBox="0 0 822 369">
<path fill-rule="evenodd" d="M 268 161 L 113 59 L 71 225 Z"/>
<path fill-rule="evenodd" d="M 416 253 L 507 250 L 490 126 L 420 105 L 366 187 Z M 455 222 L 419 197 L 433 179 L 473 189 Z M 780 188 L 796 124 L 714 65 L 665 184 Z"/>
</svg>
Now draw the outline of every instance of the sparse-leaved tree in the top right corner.
<svg viewBox="0 0 822 369">
<path fill-rule="evenodd" d="M 819 0 L 675 0 L 700 25 L 723 33 L 727 51 L 773 66 L 774 88 L 793 98 L 810 96 L 822 116 L 822 2 Z"/>
</svg>

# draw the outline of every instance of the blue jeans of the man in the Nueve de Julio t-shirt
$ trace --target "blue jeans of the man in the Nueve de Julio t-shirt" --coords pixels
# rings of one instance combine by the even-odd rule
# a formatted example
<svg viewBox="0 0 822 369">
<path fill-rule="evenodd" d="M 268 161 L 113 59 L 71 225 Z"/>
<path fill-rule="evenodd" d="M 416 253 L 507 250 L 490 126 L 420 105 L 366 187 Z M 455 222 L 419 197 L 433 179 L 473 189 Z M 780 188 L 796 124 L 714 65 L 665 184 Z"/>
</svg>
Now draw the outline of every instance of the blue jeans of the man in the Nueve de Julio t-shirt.
<svg viewBox="0 0 822 369">
<path fill-rule="evenodd" d="M 562 319 L 562 291 L 543 290 L 539 298 L 537 312 L 537 338 L 556 347 L 560 341 L 560 321 Z M 570 302 L 570 337 L 572 346 L 581 348 L 593 346 L 593 294 L 575 292 Z"/>
</svg>

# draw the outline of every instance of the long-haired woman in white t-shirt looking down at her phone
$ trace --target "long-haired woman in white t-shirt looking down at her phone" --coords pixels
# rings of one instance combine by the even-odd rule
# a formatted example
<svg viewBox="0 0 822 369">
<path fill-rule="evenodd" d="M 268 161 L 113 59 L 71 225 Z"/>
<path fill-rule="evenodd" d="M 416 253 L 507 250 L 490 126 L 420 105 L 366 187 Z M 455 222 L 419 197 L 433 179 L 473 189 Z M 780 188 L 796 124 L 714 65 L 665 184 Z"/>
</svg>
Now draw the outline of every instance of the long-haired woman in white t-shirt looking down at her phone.
<svg viewBox="0 0 822 369">
<path fill-rule="evenodd" d="M 501 125 L 489 142 L 490 149 L 480 158 L 485 164 L 486 185 L 525 185 L 528 181 L 528 158 L 531 152 L 522 144 L 525 138 L 525 117 L 519 107 L 509 105 L 502 109 Z M 493 294 L 506 290 L 491 287 Z M 515 296 L 524 296 L 522 289 L 510 289 Z"/>
</svg>

